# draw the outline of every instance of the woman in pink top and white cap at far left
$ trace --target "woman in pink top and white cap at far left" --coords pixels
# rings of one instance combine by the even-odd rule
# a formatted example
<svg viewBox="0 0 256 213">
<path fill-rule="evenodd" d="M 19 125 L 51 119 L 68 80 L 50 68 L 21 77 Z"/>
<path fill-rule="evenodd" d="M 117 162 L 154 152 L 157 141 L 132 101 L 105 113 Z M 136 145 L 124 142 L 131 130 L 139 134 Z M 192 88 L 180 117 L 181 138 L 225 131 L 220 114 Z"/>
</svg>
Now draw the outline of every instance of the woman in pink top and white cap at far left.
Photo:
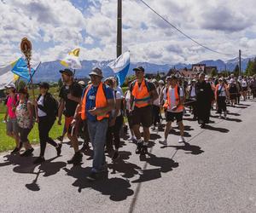
<svg viewBox="0 0 256 213">
<path fill-rule="evenodd" d="M 18 135 L 18 124 L 16 118 L 16 105 L 19 101 L 19 96 L 16 94 L 15 83 L 9 83 L 5 87 L 8 92 L 8 96 L 6 98 L 6 107 L 7 111 L 5 113 L 4 121 L 6 123 L 6 134 L 15 139 L 16 147 L 11 153 L 19 153 L 20 152 L 20 138 Z"/>
</svg>

